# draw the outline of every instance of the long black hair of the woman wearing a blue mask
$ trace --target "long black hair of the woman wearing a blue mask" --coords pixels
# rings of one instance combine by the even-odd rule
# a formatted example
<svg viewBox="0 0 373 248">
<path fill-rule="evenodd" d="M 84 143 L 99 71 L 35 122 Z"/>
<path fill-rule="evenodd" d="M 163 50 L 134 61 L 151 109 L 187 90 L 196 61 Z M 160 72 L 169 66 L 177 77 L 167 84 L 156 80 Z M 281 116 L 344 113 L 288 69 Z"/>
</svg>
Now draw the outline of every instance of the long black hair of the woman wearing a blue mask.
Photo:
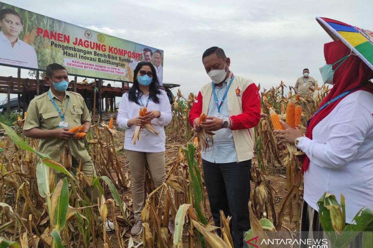
<svg viewBox="0 0 373 248">
<path fill-rule="evenodd" d="M 139 95 L 136 93 L 136 91 L 138 91 L 140 96 L 141 96 L 141 94 L 144 94 L 144 93 L 139 88 L 139 82 L 137 81 L 137 73 L 140 71 L 141 67 L 143 67 L 145 65 L 150 66 L 151 72 L 153 73 L 153 77 L 151 79 L 151 84 L 149 86 L 150 99 L 153 101 L 153 103 L 159 103 L 158 95 L 161 94 L 159 81 L 158 81 L 158 77 L 157 77 L 157 73 L 156 73 L 156 68 L 154 68 L 153 64 L 151 64 L 150 62 L 139 62 L 137 64 L 137 66 L 134 70 L 134 85 L 128 91 L 128 100 L 130 102 L 134 102 L 134 103 L 137 103 L 137 104 L 141 105 L 139 103 L 139 99 L 138 99 Z"/>
</svg>

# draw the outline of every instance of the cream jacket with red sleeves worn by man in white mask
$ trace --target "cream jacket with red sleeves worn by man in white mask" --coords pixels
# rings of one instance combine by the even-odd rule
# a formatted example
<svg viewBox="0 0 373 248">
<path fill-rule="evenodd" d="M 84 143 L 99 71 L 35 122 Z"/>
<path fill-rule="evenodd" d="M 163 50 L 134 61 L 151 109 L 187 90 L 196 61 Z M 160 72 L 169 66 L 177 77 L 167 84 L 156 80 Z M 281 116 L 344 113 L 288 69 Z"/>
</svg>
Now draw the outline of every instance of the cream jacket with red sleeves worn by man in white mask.
<svg viewBox="0 0 373 248">
<path fill-rule="evenodd" d="M 232 72 L 228 78 L 232 77 Z M 207 113 L 212 96 L 211 83 L 203 86 L 198 93 L 189 112 L 189 124 L 193 127 L 194 120 L 201 113 Z M 260 120 L 260 95 L 258 87 L 250 79 L 234 76 L 229 88 L 226 102 L 229 111 L 229 128 L 232 130 L 233 141 L 237 152 L 237 162 L 250 160 L 254 157 L 254 126 Z"/>
</svg>

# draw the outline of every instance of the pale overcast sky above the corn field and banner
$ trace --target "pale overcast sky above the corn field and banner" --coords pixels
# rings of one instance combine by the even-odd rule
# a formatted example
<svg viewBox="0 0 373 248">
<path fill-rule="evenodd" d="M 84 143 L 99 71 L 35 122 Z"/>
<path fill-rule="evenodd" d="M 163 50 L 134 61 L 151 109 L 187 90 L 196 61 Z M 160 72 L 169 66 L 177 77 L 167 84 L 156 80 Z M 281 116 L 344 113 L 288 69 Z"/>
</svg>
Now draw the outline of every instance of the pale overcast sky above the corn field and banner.
<svg viewBox="0 0 373 248">
<path fill-rule="evenodd" d="M 224 49 L 236 75 L 270 88 L 280 80 L 294 85 L 306 67 L 322 81 L 323 44 L 331 38 L 316 16 L 373 30 L 372 0 L 2 1 L 163 49 L 163 82 L 181 84 L 185 95 L 209 82 L 201 56 L 211 46 Z M 16 74 L 0 66 L 0 75 Z"/>
</svg>

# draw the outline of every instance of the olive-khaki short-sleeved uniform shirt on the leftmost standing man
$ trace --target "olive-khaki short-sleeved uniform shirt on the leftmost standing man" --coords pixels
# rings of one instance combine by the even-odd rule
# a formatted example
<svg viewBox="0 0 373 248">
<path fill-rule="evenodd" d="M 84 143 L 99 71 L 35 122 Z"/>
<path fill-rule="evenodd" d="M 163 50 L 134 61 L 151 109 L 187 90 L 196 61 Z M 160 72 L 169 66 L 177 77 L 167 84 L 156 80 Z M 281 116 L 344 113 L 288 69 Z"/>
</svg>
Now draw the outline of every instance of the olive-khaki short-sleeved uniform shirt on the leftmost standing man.
<svg viewBox="0 0 373 248">
<path fill-rule="evenodd" d="M 64 115 L 64 122 L 69 124 L 68 128 L 70 129 L 76 125 L 81 125 L 84 122 L 91 121 L 91 116 L 83 97 L 72 91 L 65 92 L 65 97 L 61 102 L 56 96 L 54 96 L 52 91 L 50 91 L 52 99 Z M 67 104 L 68 106 L 66 106 Z M 61 116 L 51 102 L 48 92 L 46 92 L 31 100 L 27 109 L 27 117 L 23 130 L 30 130 L 32 128 L 43 130 L 56 129 L 61 121 Z M 90 155 L 84 147 L 84 141 L 77 140 L 75 137 L 68 140 L 59 138 L 41 139 L 39 143 L 39 151 L 48 154 L 51 159 L 62 163 L 57 145 L 60 147 L 62 155 L 65 145 L 68 145 L 70 152 L 76 161 L 80 162 L 81 160 L 82 163 L 84 163 L 91 160 Z"/>
</svg>

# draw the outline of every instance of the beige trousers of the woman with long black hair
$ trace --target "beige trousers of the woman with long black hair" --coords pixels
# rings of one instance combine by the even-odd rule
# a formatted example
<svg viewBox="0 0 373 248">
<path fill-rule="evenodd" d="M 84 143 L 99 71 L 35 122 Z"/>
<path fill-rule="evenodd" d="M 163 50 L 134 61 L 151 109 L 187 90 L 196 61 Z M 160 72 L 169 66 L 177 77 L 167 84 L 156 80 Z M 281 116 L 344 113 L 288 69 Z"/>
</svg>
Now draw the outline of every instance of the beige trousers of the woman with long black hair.
<svg viewBox="0 0 373 248">
<path fill-rule="evenodd" d="M 166 180 L 165 152 L 137 152 L 126 150 L 132 178 L 132 197 L 135 220 L 141 220 L 145 201 L 145 161 L 148 162 L 154 185 L 160 186 Z"/>
</svg>

